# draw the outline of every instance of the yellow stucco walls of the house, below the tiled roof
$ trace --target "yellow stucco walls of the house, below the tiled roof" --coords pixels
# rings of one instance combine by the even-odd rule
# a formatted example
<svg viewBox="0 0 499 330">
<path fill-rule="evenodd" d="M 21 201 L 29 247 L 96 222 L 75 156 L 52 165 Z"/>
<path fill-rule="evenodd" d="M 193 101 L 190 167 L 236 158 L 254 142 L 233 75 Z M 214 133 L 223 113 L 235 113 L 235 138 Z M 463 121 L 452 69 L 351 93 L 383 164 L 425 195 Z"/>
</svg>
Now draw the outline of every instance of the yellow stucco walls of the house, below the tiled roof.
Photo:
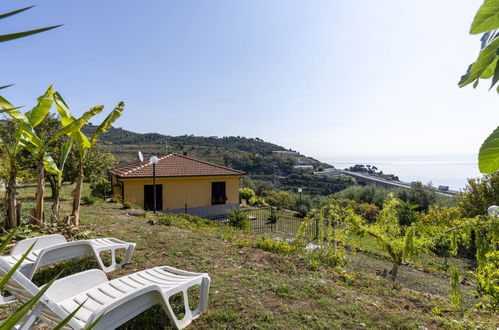
<svg viewBox="0 0 499 330">
<path fill-rule="evenodd" d="M 163 209 L 180 209 L 211 206 L 211 183 L 226 182 L 227 204 L 239 203 L 240 176 L 177 177 L 156 178 L 156 184 L 163 185 Z M 119 179 L 124 183 L 125 202 L 144 207 L 144 185 L 152 185 L 148 179 Z M 115 186 L 112 176 L 113 193 L 121 197 L 121 187 Z"/>
</svg>

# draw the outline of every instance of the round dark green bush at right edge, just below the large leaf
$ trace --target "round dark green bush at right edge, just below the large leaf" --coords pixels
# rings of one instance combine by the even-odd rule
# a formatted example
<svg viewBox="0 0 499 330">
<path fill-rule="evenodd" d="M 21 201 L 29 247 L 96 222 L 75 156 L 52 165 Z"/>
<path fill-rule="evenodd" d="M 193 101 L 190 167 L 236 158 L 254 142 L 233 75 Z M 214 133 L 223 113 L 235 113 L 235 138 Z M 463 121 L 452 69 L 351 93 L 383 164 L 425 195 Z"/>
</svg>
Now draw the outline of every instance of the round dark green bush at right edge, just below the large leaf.
<svg viewBox="0 0 499 330">
<path fill-rule="evenodd" d="M 459 196 L 458 207 L 464 217 L 487 214 L 487 208 L 499 204 L 499 175 L 484 175 L 468 179 L 468 185 Z"/>
</svg>

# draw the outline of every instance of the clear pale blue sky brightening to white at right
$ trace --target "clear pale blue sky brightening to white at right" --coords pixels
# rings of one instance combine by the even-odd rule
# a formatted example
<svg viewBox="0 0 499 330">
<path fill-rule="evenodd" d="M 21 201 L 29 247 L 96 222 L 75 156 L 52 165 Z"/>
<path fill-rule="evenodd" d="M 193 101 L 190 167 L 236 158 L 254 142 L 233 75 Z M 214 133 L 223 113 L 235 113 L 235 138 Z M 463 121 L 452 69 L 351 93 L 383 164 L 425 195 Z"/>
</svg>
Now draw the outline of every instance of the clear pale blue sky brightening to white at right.
<svg viewBox="0 0 499 330">
<path fill-rule="evenodd" d="M 53 84 L 73 112 L 125 101 L 115 126 L 259 137 L 320 160 L 473 157 L 498 124 L 488 82 L 458 88 L 480 0 L 3 1 L 2 95 Z M 102 116 L 100 117 L 102 118 Z M 98 122 L 99 119 L 94 120 Z"/>
</svg>

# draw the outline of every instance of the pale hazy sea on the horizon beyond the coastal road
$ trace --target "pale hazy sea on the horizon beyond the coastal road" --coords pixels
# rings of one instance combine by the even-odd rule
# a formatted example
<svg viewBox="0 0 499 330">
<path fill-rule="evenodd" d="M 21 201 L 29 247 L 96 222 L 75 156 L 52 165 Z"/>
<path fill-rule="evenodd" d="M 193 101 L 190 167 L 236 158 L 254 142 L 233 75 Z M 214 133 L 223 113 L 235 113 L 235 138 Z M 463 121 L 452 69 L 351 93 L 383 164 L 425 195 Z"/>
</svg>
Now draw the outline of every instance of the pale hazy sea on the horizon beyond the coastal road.
<svg viewBox="0 0 499 330">
<path fill-rule="evenodd" d="M 325 161 L 337 169 L 356 164 L 374 165 L 378 171 L 394 174 L 400 181 L 419 181 L 433 186 L 448 186 L 451 190 L 463 190 L 468 178 L 481 177 L 476 156 L 447 157 L 371 157 L 331 159 Z"/>
</svg>

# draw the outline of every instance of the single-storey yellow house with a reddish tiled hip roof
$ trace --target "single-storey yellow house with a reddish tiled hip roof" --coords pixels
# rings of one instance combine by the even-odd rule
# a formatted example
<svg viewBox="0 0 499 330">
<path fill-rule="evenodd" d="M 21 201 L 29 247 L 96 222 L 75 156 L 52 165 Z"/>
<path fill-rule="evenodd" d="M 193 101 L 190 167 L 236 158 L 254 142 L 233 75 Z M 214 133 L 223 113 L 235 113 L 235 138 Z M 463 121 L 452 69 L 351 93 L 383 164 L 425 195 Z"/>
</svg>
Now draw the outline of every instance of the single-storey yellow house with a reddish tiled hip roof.
<svg viewBox="0 0 499 330">
<path fill-rule="evenodd" d="M 207 217 L 239 206 L 239 181 L 244 172 L 174 153 L 158 156 L 155 168 L 145 160 L 109 170 L 113 195 L 153 210 L 153 170 L 156 210 Z"/>
</svg>

